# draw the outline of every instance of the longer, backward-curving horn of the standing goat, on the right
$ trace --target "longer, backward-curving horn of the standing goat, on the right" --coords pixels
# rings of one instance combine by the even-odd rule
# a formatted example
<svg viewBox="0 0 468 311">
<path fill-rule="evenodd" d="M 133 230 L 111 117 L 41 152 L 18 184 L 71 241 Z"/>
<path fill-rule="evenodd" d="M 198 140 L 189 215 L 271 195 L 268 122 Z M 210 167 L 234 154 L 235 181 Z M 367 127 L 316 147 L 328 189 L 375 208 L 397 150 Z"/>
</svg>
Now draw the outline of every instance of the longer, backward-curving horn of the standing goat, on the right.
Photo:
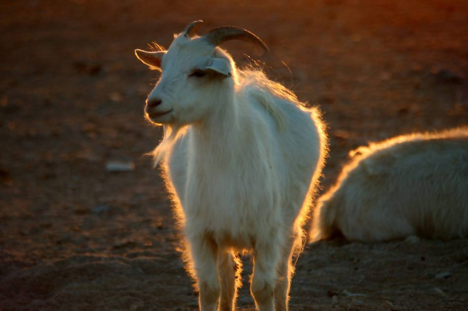
<svg viewBox="0 0 468 311">
<path fill-rule="evenodd" d="M 239 39 L 259 45 L 265 49 L 265 51 L 269 51 L 268 46 L 266 46 L 266 44 L 259 37 L 242 28 L 232 26 L 219 27 L 211 30 L 203 37 L 214 46 L 217 46 L 228 40 Z"/>
</svg>

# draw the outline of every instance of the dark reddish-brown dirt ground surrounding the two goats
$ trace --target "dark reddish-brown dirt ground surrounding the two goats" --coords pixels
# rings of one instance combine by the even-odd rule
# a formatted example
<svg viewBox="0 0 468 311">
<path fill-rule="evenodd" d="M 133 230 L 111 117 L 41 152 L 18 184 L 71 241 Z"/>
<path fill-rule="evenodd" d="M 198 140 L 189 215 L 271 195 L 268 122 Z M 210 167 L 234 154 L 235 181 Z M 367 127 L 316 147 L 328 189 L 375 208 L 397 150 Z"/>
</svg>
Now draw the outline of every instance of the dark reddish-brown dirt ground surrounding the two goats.
<svg viewBox="0 0 468 311">
<path fill-rule="evenodd" d="M 367 141 L 467 124 L 467 1 L 1 1 L 2 311 L 197 309 L 144 156 L 161 136 L 143 118 L 157 73 L 133 53 L 197 19 L 257 34 L 268 75 L 323 110 L 322 191 Z M 242 66 L 261 57 L 223 47 Z M 468 310 L 468 240 L 310 244 L 290 309 Z"/>
</svg>

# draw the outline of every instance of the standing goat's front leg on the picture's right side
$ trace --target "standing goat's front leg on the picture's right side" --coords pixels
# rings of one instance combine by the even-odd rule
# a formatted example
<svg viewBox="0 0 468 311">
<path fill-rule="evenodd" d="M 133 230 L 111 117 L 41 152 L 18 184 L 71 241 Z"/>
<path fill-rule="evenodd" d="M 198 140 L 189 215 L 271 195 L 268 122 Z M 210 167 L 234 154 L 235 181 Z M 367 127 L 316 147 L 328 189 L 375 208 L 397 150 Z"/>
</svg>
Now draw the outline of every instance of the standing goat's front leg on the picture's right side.
<svg viewBox="0 0 468 311">
<path fill-rule="evenodd" d="M 275 243 L 257 244 L 253 250 L 251 292 L 259 311 L 273 311 L 276 264 L 279 257 Z"/>
</svg>

